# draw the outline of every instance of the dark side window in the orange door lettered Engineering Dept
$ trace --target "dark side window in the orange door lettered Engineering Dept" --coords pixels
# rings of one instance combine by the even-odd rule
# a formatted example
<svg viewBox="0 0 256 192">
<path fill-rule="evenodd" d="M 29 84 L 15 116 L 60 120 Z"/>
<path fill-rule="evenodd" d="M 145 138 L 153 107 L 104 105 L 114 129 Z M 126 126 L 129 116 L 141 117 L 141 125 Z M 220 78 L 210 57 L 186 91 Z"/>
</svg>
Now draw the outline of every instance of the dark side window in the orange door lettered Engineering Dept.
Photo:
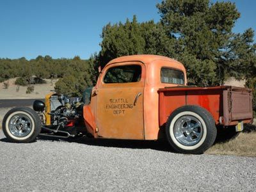
<svg viewBox="0 0 256 192">
<path fill-rule="evenodd" d="M 140 65 L 122 65 L 109 68 L 104 83 L 134 83 L 141 79 Z"/>
</svg>

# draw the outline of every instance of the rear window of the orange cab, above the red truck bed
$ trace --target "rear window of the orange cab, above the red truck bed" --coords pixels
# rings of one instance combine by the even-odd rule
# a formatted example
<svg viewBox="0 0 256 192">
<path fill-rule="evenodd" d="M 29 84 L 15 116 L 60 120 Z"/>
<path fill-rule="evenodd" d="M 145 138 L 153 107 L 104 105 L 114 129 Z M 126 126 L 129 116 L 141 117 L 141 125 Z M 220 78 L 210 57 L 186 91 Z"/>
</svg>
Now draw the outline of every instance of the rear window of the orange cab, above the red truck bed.
<svg viewBox="0 0 256 192">
<path fill-rule="evenodd" d="M 184 74 L 173 68 L 161 68 L 161 83 L 184 84 Z"/>
</svg>

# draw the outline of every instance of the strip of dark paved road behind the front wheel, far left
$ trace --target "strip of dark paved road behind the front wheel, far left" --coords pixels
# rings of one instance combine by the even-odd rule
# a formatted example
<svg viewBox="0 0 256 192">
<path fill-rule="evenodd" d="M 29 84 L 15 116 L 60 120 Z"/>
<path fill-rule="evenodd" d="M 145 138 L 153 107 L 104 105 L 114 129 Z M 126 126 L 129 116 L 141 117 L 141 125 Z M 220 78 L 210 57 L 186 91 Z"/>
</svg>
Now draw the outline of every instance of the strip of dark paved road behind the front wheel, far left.
<svg viewBox="0 0 256 192">
<path fill-rule="evenodd" d="M 0 108 L 32 106 L 34 100 L 43 100 L 44 101 L 44 99 L 0 99 Z"/>
</svg>

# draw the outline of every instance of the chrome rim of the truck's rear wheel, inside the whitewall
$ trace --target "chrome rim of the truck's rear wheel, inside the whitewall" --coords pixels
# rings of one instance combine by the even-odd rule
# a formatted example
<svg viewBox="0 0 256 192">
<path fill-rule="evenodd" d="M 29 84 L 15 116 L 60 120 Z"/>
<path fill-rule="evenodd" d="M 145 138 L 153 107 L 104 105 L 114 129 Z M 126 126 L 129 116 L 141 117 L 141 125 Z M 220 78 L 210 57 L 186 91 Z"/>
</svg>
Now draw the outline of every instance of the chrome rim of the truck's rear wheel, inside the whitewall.
<svg viewBox="0 0 256 192">
<path fill-rule="evenodd" d="M 175 122 L 173 134 L 182 145 L 192 146 L 201 140 L 203 127 L 195 116 L 180 116 Z"/>
</svg>

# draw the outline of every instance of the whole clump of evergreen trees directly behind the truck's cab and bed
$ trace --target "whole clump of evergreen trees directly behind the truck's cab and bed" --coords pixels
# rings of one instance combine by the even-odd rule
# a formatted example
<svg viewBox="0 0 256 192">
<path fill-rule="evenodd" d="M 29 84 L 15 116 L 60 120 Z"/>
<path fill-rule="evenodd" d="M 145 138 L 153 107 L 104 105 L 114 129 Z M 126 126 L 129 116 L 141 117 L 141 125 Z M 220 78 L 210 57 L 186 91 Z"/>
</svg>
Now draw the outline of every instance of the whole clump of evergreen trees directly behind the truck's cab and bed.
<svg viewBox="0 0 256 192">
<path fill-rule="evenodd" d="M 131 22 L 104 26 L 102 49 L 94 63 L 104 67 L 119 56 L 159 54 L 181 61 L 189 84 L 198 86 L 223 84 L 227 77 L 241 79 L 255 71 L 252 29 L 232 33 L 240 17 L 234 3 L 166 0 L 157 8 L 161 15 L 157 24 L 138 23 L 134 16 Z"/>
</svg>

